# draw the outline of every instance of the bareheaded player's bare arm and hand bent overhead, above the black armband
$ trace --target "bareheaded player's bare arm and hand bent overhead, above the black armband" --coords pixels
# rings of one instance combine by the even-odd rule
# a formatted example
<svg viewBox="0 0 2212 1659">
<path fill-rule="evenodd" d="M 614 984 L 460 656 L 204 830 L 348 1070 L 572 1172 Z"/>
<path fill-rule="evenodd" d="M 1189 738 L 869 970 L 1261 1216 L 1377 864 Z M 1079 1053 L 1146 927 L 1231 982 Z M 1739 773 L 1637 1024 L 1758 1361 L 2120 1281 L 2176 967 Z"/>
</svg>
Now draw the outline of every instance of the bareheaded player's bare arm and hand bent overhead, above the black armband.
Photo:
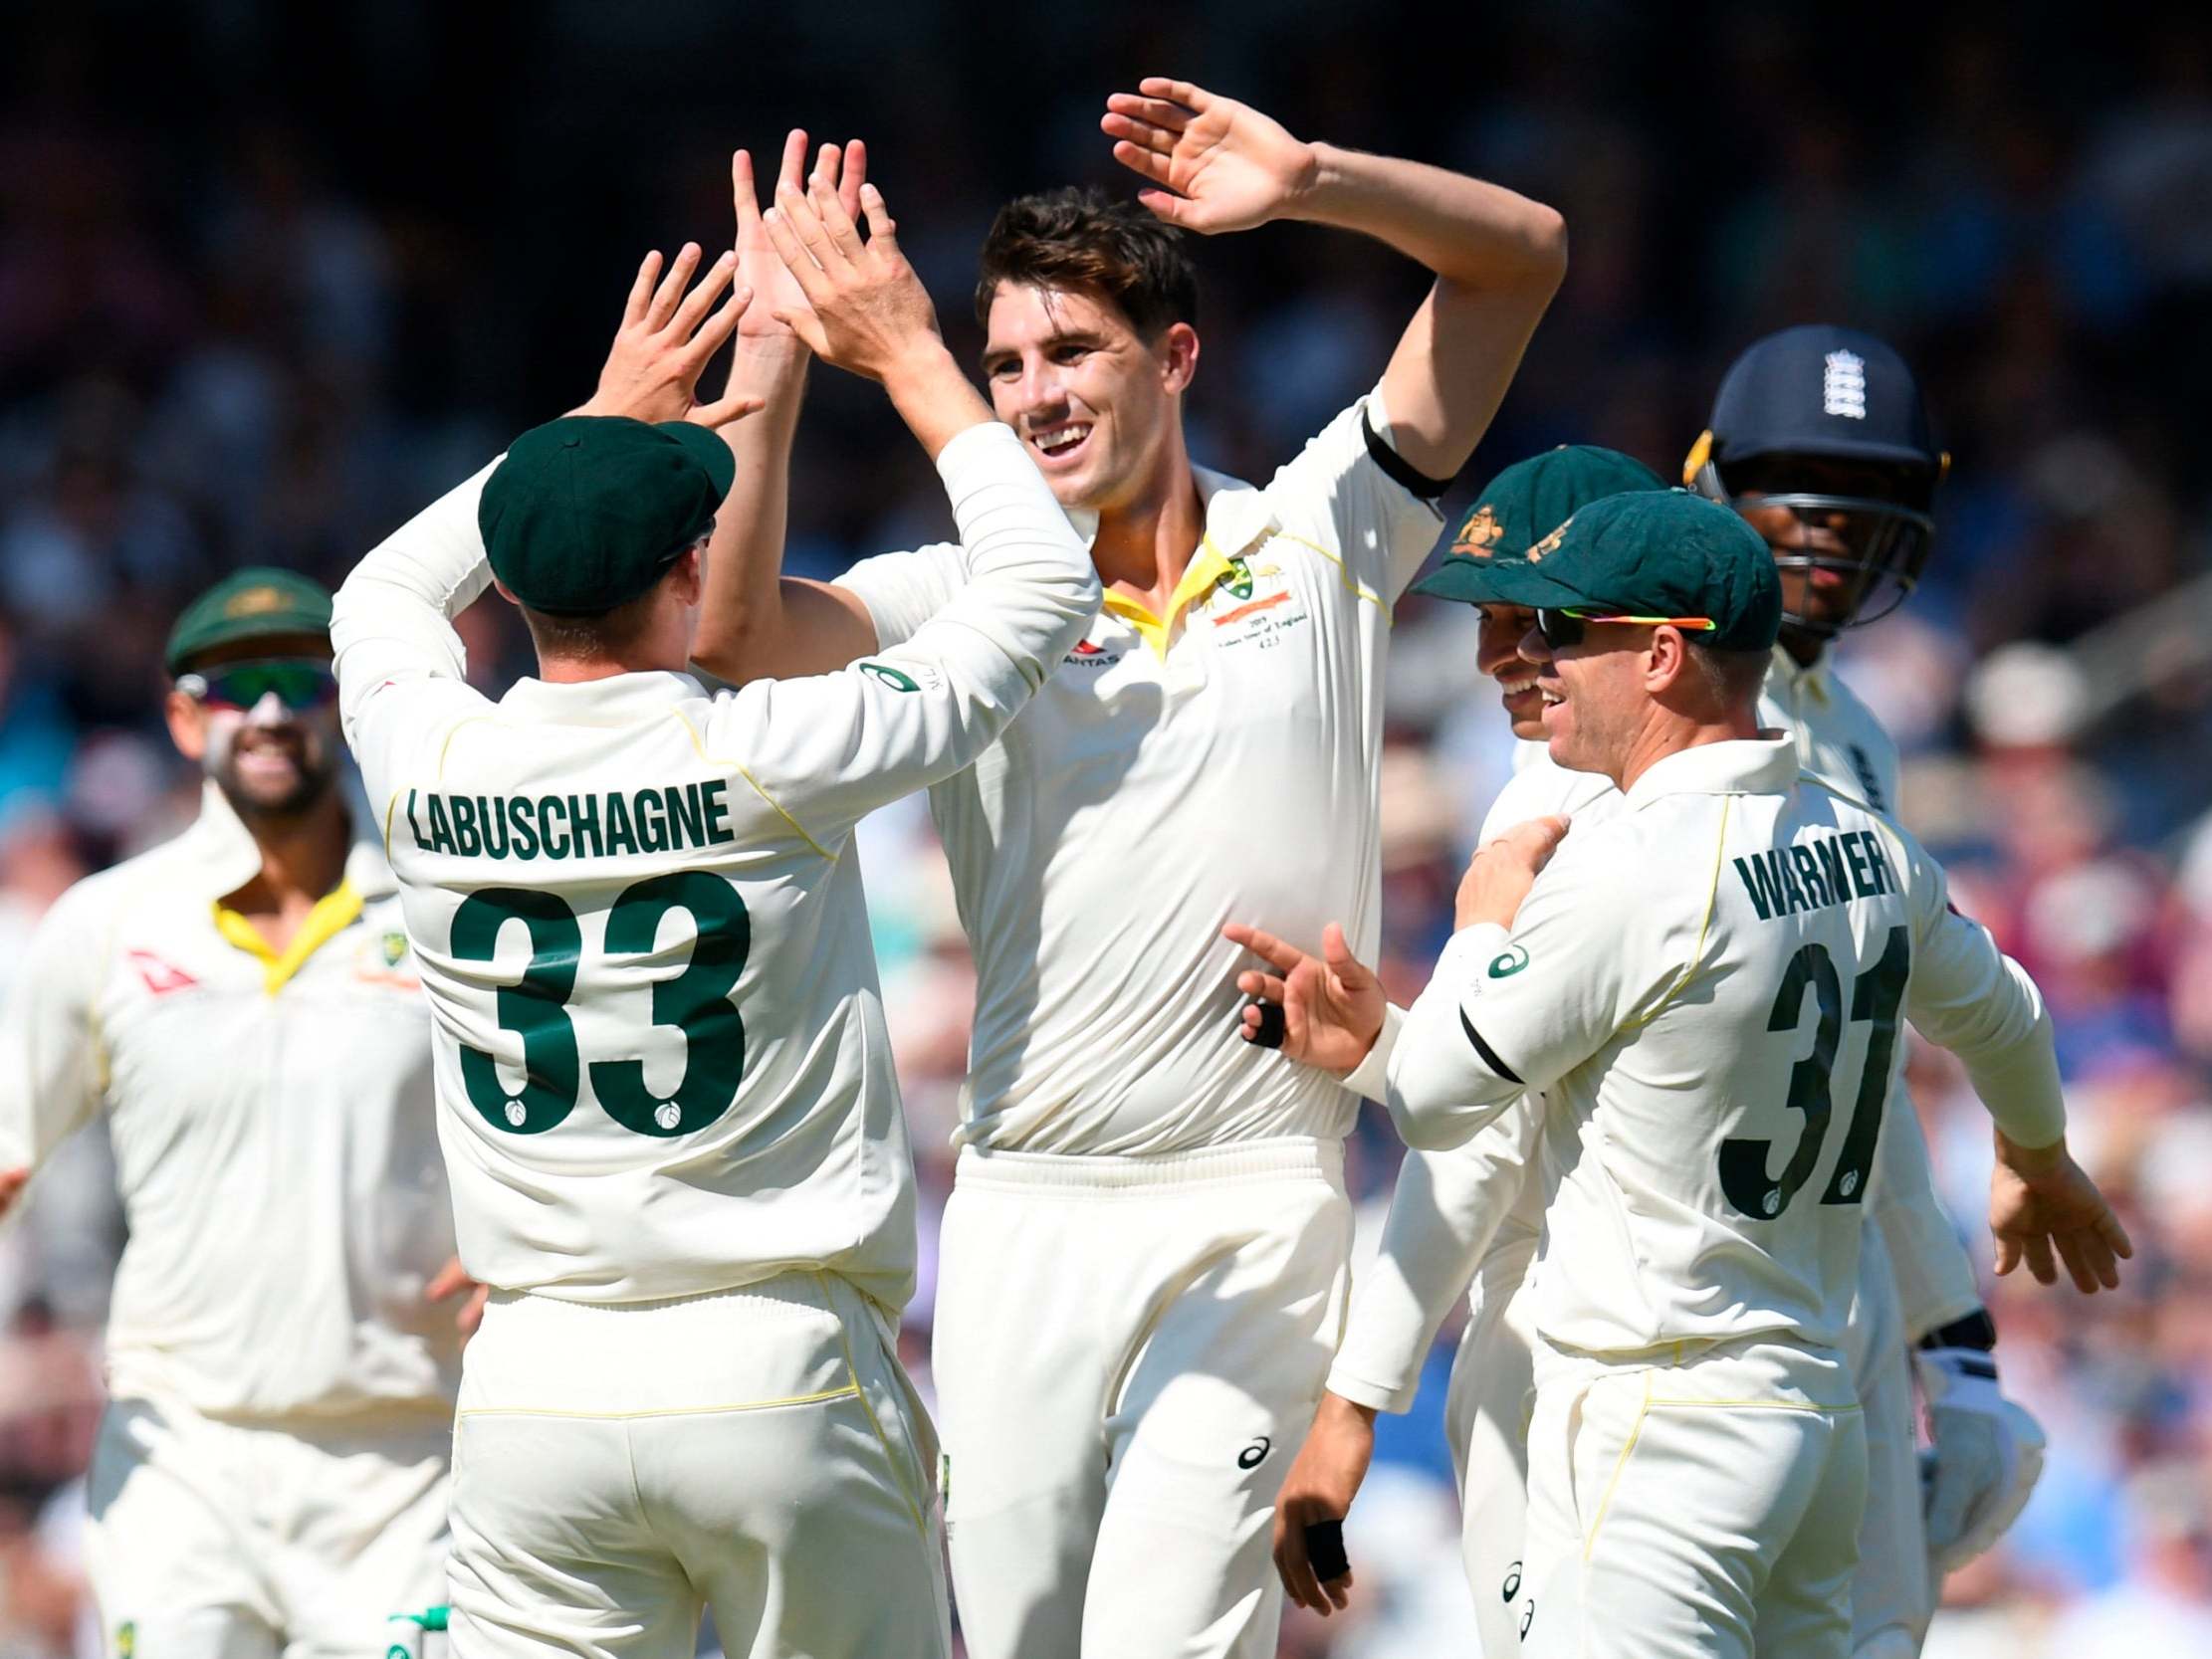
<svg viewBox="0 0 2212 1659">
<path fill-rule="evenodd" d="M 1566 276 L 1553 208 L 1460 173 L 1292 137 L 1250 104 L 1152 75 L 1106 100 L 1139 201 L 1217 234 L 1270 219 L 1358 230 L 1436 272 L 1383 374 L 1391 447 L 1451 478 L 1489 429 L 1528 336 Z"/>
</svg>

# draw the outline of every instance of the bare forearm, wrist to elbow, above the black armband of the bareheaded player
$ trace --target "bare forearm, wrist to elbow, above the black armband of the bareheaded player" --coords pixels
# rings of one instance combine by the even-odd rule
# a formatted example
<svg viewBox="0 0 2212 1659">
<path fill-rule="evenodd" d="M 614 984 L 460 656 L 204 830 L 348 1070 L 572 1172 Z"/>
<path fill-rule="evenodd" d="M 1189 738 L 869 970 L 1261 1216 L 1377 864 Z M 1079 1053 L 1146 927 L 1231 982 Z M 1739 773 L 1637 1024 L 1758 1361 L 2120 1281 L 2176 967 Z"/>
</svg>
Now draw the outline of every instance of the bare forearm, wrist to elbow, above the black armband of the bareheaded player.
<svg viewBox="0 0 2212 1659">
<path fill-rule="evenodd" d="M 1312 177 L 1285 217 L 1389 243 L 1447 283 L 1478 290 L 1557 288 L 1566 221 L 1464 173 L 1314 144 Z"/>
</svg>

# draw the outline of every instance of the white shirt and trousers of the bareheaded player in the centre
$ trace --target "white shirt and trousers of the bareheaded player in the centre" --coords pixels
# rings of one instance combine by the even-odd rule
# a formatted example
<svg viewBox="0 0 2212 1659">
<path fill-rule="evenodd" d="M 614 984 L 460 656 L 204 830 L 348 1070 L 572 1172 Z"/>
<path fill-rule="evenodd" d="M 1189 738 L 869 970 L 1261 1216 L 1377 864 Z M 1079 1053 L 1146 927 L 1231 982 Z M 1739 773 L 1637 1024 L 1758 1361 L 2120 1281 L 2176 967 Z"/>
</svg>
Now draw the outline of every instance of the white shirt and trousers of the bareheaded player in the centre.
<svg viewBox="0 0 2212 1659">
<path fill-rule="evenodd" d="M 1272 1655 L 1270 1520 L 1343 1323 L 1336 1079 L 1237 1031 L 1232 920 L 1374 949 L 1389 604 L 1436 509 L 1360 409 L 1263 489 L 1199 471 L 1166 617 L 1108 593 L 931 790 L 978 993 L 936 1380 L 978 1659 Z M 854 566 L 885 646 L 951 549 Z"/>
</svg>

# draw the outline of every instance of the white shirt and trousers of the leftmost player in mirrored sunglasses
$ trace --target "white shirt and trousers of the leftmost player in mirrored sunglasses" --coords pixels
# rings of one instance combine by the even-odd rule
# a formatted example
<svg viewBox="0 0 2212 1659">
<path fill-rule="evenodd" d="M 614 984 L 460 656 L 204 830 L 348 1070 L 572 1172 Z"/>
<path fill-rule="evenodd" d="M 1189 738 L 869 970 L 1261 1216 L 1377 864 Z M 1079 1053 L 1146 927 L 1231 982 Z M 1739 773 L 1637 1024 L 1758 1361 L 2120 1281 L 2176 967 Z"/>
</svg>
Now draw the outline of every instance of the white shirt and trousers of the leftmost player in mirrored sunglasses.
<svg viewBox="0 0 2212 1659">
<path fill-rule="evenodd" d="M 358 1659 L 445 1599 L 460 1336 L 429 1018 L 372 838 L 281 956 L 223 907 L 261 849 L 212 783 L 71 887 L 0 1035 L 0 1168 L 104 1110 L 131 1241 L 86 1564 L 111 1644 Z"/>
</svg>

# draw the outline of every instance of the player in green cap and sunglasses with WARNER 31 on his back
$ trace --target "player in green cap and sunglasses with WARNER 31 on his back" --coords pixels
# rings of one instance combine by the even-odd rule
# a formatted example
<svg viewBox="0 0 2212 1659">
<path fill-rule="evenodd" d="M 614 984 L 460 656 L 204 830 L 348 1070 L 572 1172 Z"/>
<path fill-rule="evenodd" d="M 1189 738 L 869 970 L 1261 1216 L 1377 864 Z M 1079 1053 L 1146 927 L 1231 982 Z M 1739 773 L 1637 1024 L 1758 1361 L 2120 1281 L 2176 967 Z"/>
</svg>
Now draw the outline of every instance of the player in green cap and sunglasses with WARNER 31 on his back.
<svg viewBox="0 0 2212 1659">
<path fill-rule="evenodd" d="M 2066 1155 L 2033 982 L 1909 836 L 1759 732 L 1759 535 L 1681 491 L 1608 495 L 1484 586 L 1537 611 L 1553 761 L 1624 807 L 1478 854 L 1402 1022 L 1371 975 L 1248 933 L 1283 973 L 1256 989 L 1413 1146 L 1544 1095 L 1526 1650 L 1845 1655 L 1865 1436 L 1840 1340 L 1900 1015 L 1997 1119 L 2000 1272 L 2117 1285 L 2126 1234 Z"/>
</svg>

